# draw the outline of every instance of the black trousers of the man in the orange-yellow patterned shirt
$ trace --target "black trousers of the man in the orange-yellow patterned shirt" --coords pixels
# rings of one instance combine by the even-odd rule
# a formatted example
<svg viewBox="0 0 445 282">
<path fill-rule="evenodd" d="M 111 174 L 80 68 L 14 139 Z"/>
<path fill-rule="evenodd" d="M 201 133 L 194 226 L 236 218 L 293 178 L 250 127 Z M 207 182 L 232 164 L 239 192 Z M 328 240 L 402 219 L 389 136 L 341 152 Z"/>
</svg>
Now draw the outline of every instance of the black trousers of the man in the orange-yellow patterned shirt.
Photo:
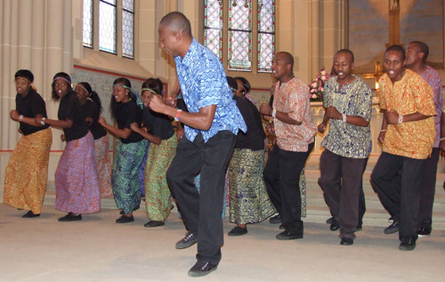
<svg viewBox="0 0 445 282">
<path fill-rule="evenodd" d="M 372 188 L 384 208 L 399 222 L 399 238 L 417 238 L 417 213 L 425 159 L 401 157 L 382 152 L 371 174 Z M 401 187 L 394 179 L 401 171 Z"/>
</svg>

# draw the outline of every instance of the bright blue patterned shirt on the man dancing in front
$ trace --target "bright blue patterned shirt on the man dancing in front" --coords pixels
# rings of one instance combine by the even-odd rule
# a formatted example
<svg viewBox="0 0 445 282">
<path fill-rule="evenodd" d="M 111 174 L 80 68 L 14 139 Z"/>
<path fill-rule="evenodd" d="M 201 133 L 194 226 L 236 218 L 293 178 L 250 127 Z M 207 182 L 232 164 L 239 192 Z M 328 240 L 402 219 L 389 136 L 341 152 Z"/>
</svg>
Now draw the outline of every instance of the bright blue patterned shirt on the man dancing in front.
<svg viewBox="0 0 445 282">
<path fill-rule="evenodd" d="M 247 132 L 246 123 L 227 84 L 223 64 L 212 51 L 193 38 L 184 58 L 177 56 L 174 62 L 187 109 L 197 113 L 201 108 L 216 105 L 214 120 L 208 130 L 185 125 L 184 132 L 188 140 L 194 141 L 198 133 L 202 133 L 206 142 L 223 130 L 234 134 L 238 134 L 239 129 Z"/>
</svg>

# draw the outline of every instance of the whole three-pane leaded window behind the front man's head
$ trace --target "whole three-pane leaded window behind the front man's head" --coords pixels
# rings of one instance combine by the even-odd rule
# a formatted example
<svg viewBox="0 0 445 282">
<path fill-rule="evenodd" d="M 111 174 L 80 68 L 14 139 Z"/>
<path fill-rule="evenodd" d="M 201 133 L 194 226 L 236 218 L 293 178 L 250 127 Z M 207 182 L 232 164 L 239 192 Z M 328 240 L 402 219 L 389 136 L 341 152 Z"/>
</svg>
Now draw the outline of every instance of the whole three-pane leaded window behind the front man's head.
<svg viewBox="0 0 445 282">
<path fill-rule="evenodd" d="M 271 72 L 275 0 L 205 0 L 204 10 L 204 44 L 220 60 L 226 56 L 227 69 Z"/>
</svg>

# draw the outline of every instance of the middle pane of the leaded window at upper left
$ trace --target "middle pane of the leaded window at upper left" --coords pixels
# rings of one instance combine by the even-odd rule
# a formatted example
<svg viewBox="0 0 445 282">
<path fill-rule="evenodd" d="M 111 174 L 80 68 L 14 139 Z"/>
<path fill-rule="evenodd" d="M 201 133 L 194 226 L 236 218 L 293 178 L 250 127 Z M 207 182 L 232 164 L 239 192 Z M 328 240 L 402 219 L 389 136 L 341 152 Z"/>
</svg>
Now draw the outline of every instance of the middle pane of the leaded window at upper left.
<svg viewBox="0 0 445 282">
<path fill-rule="evenodd" d="M 116 53 L 116 0 L 99 1 L 99 49 Z"/>
</svg>

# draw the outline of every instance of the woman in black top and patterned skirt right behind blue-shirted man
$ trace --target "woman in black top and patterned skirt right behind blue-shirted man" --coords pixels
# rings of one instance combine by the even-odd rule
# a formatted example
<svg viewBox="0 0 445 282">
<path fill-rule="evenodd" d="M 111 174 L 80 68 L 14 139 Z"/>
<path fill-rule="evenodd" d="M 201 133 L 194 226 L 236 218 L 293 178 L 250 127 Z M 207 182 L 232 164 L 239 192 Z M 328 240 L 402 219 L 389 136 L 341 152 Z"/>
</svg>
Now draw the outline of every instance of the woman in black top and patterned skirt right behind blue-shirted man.
<svg viewBox="0 0 445 282">
<path fill-rule="evenodd" d="M 266 138 L 263 122 L 258 109 L 246 98 L 250 84 L 244 77 L 228 77 L 227 80 L 247 125 L 247 133 L 238 133 L 229 163 L 231 222 L 237 223 L 229 236 L 240 236 L 247 233 L 247 223 L 262 222 L 276 211 L 263 181 Z"/>
</svg>

